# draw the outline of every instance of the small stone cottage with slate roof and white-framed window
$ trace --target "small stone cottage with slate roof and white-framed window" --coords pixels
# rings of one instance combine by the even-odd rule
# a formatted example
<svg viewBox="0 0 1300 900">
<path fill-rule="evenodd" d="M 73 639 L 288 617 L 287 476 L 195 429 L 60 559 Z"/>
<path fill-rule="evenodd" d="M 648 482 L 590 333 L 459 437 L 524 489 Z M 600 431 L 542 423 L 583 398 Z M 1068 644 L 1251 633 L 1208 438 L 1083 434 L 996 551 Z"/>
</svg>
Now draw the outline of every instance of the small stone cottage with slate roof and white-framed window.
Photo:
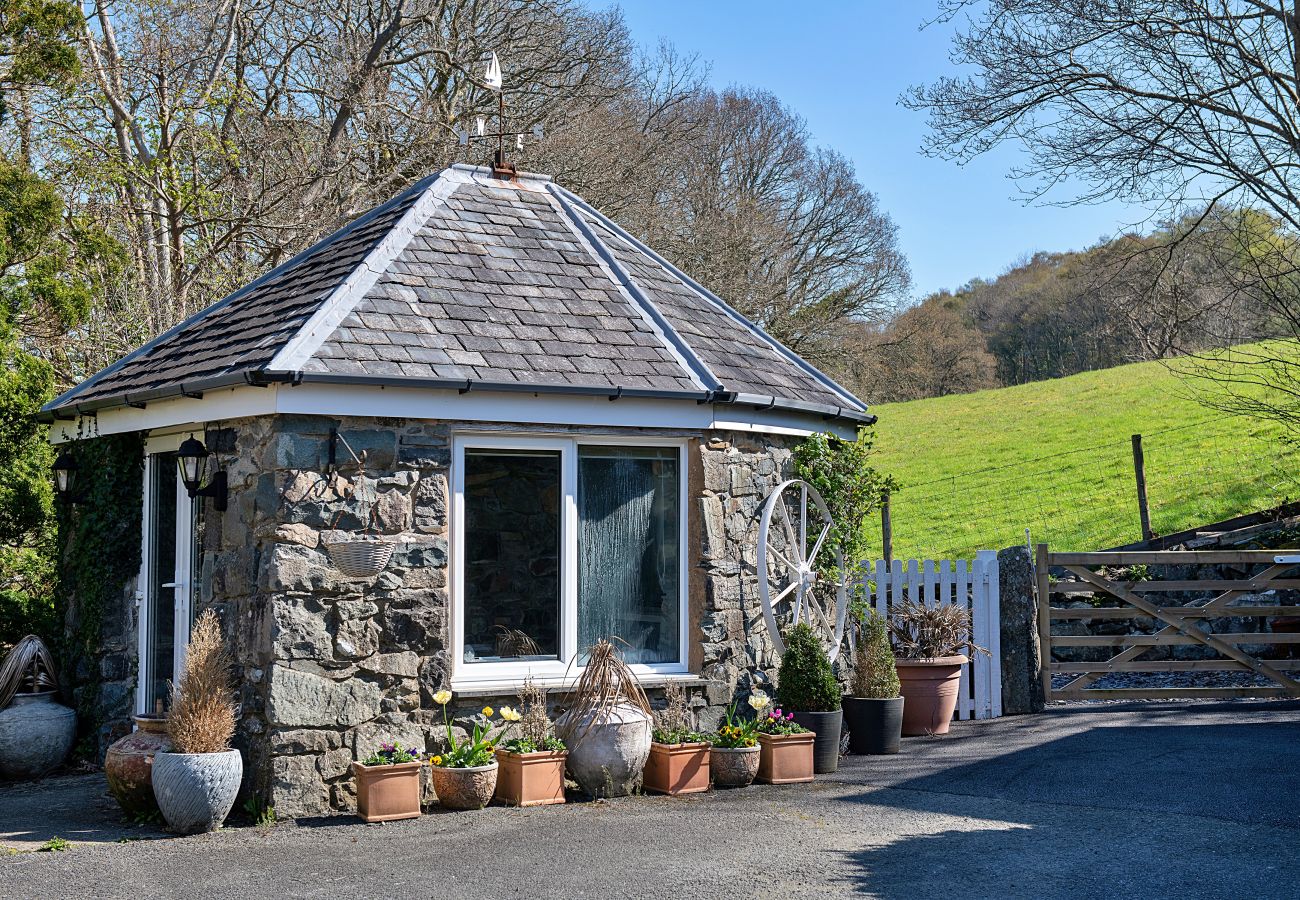
<svg viewBox="0 0 1300 900">
<path fill-rule="evenodd" d="M 281 815 L 348 809 L 348 763 L 381 740 L 436 748 L 439 688 L 463 708 L 559 688 L 606 635 L 716 715 L 776 662 L 754 542 L 790 447 L 872 420 L 549 178 L 464 165 L 44 412 L 65 460 L 143 436 L 104 718 L 164 700 L 214 607 L 246 787 Z M 394 544 L 377 575 L 330 555 L 359 532 Z"/>
</svg>

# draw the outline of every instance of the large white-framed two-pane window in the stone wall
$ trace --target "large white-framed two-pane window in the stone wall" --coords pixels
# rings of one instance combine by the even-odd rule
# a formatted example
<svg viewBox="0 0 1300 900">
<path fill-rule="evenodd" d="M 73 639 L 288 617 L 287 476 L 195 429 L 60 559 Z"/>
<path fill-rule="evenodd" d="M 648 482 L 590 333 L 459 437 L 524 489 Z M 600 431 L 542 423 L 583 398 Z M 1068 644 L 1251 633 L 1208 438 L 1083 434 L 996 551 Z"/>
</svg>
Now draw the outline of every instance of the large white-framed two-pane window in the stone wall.
<svg viewBox="0 0 1300 900">
<path fill-rule="evenodd" d="M 685 671 L 680 442 L 455 449 L 458 682 L 562 675 L 602 637 L 642 671 Z"/>
</svg>

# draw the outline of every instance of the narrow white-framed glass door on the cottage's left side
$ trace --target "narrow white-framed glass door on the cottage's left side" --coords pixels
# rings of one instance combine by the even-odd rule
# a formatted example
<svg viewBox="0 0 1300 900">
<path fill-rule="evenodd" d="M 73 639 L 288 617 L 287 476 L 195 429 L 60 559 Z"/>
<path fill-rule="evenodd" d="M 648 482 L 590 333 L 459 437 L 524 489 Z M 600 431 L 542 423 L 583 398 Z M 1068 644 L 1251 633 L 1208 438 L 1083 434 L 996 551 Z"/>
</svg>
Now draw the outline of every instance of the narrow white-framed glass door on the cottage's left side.
<svg viewBox="0 0 1300 900">
<path fill-rule="evenodd" d="M 181 484 L 176 451 L 144 462 L 144 548 L 139 598 L 136 711 L 170 704 L 168 684 L 181 671 L 190 640 L 194 507 Z"/>
</svg>

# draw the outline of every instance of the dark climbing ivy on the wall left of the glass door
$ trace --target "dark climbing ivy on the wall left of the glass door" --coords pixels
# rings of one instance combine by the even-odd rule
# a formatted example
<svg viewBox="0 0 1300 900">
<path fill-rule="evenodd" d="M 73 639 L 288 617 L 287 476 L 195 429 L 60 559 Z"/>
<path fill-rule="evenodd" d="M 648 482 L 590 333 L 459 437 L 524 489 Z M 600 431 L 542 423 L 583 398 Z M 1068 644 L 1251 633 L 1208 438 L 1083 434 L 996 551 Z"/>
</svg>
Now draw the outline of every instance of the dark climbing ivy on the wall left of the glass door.
<svg viewBox="0 0 1300 900">
<path fill-rule="evenodd" d="M 140 434 L 78 441 L 75 505 L 58 501 L 60 665 L 74 692 L 81 734 L 103 724 L 104 616 L 127 609 L 127 583 L 140 571 L 144 442 Z"/>
</svg>

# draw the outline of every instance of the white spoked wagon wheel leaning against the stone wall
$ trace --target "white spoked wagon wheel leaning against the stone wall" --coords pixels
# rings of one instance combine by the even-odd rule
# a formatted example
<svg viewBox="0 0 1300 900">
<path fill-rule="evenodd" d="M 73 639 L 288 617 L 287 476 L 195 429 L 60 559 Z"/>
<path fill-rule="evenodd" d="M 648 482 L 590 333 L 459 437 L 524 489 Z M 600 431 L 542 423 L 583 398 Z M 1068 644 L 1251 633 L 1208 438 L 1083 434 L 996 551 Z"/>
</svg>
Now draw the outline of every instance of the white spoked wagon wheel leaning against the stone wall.
<svg viewBox="0 0 1300 900">
<path fill-rule="evenodd" d="M 812 589 L 818 581 L 816 566 L 824 554 L 833 553 L 836 570 L 844 572 L 844 553 L 838 546 L 827 546 L 833 524 L 822 494 L 797 479 L 779 484 L 763 505 L 758 525 L 758 594 L 777 653 L 785 653 L 781 626 L 806 622 L 826 639 L 832 659 L 840 654 L 849 593 L 841 579 L 835 585 L 835 609 L 824 609 Z M 811 545 L 810 528 L 815 532 Z"/>
</svg>

